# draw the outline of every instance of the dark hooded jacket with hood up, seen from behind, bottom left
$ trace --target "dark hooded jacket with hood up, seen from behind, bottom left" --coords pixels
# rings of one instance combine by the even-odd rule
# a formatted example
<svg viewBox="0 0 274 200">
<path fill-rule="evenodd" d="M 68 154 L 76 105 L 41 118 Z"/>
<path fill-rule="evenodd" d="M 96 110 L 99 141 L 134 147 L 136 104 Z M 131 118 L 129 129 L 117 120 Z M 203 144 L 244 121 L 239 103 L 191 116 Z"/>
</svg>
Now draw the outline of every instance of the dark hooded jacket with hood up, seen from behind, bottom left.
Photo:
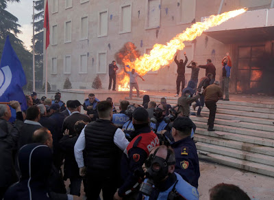
<svg viewBox="0 0 274 200">
<path fill-rule="evenodd" d="M 18 153 L 21 178 L 5 192 L 4 199 L 50 199 L 48 178 L 51 172 L 51 149 L 42 144 L 27 144 Z"/>
</svg>

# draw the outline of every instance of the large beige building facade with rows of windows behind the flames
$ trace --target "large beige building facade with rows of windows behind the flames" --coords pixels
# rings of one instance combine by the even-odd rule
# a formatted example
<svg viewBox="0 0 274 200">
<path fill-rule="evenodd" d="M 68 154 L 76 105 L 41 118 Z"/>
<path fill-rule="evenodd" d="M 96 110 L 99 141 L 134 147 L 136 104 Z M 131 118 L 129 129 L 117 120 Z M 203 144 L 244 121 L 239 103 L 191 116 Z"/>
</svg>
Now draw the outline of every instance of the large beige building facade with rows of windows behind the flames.
<svg viewBox="0 0 274 200">
<path fill-rule="evenodd" d="M 47 73 L 53 90 L 62 89 L 66 78 L 73 89 L 91 89 L 97 75 L 103 88 L 108 89 L 108 64 L 125 43 L 134 43 L 141 54 L 149 53 L 155 43 L 169 42 L 206 16 L 249 8 L 246 18 L 237 16 L 235 24 L 229 20 L 227 25 L 224 23 L 223 27 L 210 29 L 195 41 L 185 43 L 179 58 L 184 59 L 186 52 L 189 62 L 195 60 L 198 65 L 206 65 L 206 59 L 212 59 L 216 80 L 221 80 L 221 60 L 229 52 L 233 64 L 230 91 L 273 91 L 274 84 L 261 89 L 274 76 L 271 67 L 262 66 L 267 56 L 271 62 L 274 55 L 273 0 L 49 0 L 48 3 L 51 41 Z M 44 56 L 44 63 L 45 59 Z M 149 71 L 144 76 L 146 81 L 139 82 L 140 89 L 175 90 L 176 69 L 173 62 L 169 67 Z M 186 82 L 190 73 L 186 69 Z M 201 69 L 199 77 L 203 76 L 205 70 Z"/>
</svg>

